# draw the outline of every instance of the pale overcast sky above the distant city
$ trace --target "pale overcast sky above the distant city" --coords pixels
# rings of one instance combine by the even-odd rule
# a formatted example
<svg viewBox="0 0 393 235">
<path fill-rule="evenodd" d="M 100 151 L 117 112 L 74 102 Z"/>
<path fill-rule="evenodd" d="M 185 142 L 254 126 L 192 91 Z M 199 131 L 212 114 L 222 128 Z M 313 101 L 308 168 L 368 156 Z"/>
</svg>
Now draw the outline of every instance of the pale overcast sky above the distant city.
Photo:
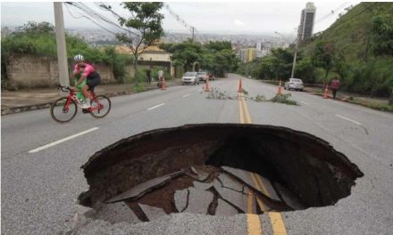
<svg viewBox="0 0 393 235">
<path fill-rule="evenodd" d="M 172 12 L 180 16 L 188 25 L 197 28 L 200 33 L 214 32 L 227 34 L 274 34 L 295 35 L 300 22 L 301 10 L 308 1 L 290 2 L 165 2 Z M 328 28 L 340 12 L 359 1 L 314 1 L 316 16 L 314 33 Z M 102 11 L 94 2 L 84 2 L 96 12 L 116 21 L 112 14 Z M 120 3 L 107 3 L 115 12 L 129 15 Z M 333 12 L 332 12 L 333 11 Z M 188 32 L 170 12 L 163 8 L 163 28 L 166 31 Z M 98 28 L 90 20 L 81 17 L 80 12 L 63 4 L 65 28 Z M 81 18 L 80 18 L 81 17 Z M 78 18 L 78 19 L 75 19 Z M 1 3 L 1 26 L 21 26 L 28 21 L 48 21 L 54 24 L 54 5 L 46 3 Z M 105 24 L 103 24 L 105 25 Z"/>
</svg>

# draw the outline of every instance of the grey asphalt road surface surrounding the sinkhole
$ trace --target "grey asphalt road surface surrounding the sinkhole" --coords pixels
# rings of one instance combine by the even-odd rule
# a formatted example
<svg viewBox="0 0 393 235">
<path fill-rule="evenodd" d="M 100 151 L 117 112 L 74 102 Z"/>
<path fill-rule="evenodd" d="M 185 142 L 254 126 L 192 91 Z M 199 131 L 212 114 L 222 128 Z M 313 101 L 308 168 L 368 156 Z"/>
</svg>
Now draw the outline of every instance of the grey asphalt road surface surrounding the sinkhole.
<svg viewBox="0 0 393 235">
<path fill-rule="evenodd" d="M 238 80 L 230 75 L 211 85 L 236 97 Z M 253 97 L 271 98 L 277 92 L 277 86 L 244 77 L 243 88 Z M 113 109 L 102 119 L 79 110 L 76 118 L 61 125 L 51 119 L 49 109 L 4 116 L 2 233 L 65 234 L 73 229 L 78 234 L 391 234 L 393 115 L 289 93 L 299 106 L 206 99 L 203 85 L 187 85 L 113 97 Z M 286 126 L 314 134 L 344 153 L 364 177 L 356 180 L 350 196 L 329 207 L 230 217 L 172 214 L 150 223 L 95 221 L 75 230 L 73 222 L 85 210 L 76 199 L 88 190 L 80 166 L 90 156 L 133 134 L 198 123 Z"/>
</svg>

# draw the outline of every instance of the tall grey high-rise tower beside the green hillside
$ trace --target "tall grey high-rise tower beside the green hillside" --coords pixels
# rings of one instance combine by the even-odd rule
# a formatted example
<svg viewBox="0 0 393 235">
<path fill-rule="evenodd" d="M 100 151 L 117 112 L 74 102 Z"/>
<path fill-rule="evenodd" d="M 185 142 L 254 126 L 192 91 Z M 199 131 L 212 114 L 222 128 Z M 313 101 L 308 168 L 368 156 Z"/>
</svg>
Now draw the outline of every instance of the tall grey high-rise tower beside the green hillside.
<svg viewBox="0 0 393 235">
<path fill-rule="evenodd" d="M 313 35 L 315 12 L 314 3 L 305 4 L 305 9 L 302 10 L 302 16 L 300 17 L 300 25 L 297 29 L 297 39 L 299 41 Z"/>
</svg>

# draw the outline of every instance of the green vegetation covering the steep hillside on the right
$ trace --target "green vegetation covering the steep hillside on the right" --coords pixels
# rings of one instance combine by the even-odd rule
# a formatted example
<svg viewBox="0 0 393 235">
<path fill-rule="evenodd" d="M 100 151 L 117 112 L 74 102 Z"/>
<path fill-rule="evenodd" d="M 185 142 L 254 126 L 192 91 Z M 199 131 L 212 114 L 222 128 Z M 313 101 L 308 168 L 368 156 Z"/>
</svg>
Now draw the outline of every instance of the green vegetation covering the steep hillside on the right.
<svg viewBox="0 0 393 235">
<path fill-rule="evenodd" d="M 242 64 L 238 72 L 258 79 L 287 79 L 294 48 L 272 50 L 268 57 Z M 356 5 L 330 28 L 302 42 L 297 55 L 295 77 L 305 83 L 329 83 L 339 77 L 347 92 L 389 96 L 393 90 L 393 3 Z"/>
</svg>

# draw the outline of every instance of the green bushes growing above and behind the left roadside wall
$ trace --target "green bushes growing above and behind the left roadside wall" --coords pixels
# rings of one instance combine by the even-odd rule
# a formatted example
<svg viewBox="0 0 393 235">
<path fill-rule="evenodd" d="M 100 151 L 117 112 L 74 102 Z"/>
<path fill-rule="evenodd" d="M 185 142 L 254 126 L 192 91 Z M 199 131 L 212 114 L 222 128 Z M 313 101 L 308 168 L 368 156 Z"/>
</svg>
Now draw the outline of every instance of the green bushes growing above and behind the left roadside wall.
<svg viewBox="0 0 393 235">
<path fill-rule="evenodd" d="M 2 38 L 2 88 L 7 86 L 5 64 L 7 58 L 15 53 L 31 54 L 37 56 L 57 57 L 57 47 L 54 34 L 54 27 L 49 23 L 29 22 L 19 31 Z M 93 63 L 105 63 L 112 67 L 114 78 L 118 82 L 124 82 L 130 75 L 125 70 L 125 66 L 132 63 L 132 58 L 127 54 L 120 54 L 114 51 L 114 47 L 105 47 L 104 50 L 88 45 L 78 36 L 66 35 L 66 48 L 69 61 L 75 54 L 83 54 L 86 61 Z"/>
</svg>

